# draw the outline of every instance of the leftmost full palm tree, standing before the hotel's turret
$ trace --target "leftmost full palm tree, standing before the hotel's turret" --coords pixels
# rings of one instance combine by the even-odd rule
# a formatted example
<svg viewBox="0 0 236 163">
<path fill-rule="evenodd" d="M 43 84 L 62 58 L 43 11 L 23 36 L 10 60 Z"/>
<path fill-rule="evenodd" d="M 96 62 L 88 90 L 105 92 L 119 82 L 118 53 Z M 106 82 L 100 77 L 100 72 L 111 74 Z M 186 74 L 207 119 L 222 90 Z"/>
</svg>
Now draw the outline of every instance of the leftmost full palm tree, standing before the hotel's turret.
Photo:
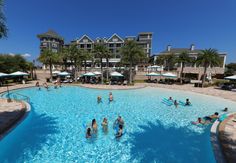
<svg viewBox="0 0 236 163">
<path fill-rule="evenodd" d="M 58 61 L 58 55 L 51 49 L 44 49 L 40 54 L 38 61 L 45 65 L 49 65 L 50 79 L 52 81 L 52 65 Z"/>
</svg>

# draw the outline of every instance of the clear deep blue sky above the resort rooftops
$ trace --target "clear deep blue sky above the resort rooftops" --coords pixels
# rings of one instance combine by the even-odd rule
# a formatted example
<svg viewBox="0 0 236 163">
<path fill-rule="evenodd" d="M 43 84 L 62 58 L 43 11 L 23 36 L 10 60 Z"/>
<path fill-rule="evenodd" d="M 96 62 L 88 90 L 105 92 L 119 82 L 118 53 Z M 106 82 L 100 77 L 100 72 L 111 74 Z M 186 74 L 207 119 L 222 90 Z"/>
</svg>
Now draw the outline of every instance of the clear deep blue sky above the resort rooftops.
<svg viewBox="0 0 236 163">
<path fill-rule="evenodd" d="M 36 35 L 53 29 L 66 42 L 153 32 L 153 53 L 166 48 L 216 48 L 236 62 L 235 0 L 5 0 L 9 37 L 0 53 L 39 55 Z"/>
</svg>

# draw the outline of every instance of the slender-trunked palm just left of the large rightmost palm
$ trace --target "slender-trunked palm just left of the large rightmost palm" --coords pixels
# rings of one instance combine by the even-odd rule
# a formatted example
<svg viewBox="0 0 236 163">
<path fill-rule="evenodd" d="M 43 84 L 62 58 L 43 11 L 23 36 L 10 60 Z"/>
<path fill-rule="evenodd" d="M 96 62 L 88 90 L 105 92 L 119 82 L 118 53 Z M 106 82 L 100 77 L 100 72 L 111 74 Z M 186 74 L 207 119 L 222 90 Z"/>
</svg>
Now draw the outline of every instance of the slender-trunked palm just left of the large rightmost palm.
<svg viewBox="0 0 236 163">
<path fill-rule="evenodd" d="M 179 57 L 176 59 L 176 61 L 181 64 L 180 83 L 182 84 L 183 83 L 182 79 L 183 79 L 183 72 L 184 72 L 185 64 L 186 63 L 191 63 L 192 58 L 189 56 L 189 53 L 184 51 L 179 55 Z"/>
</svg>

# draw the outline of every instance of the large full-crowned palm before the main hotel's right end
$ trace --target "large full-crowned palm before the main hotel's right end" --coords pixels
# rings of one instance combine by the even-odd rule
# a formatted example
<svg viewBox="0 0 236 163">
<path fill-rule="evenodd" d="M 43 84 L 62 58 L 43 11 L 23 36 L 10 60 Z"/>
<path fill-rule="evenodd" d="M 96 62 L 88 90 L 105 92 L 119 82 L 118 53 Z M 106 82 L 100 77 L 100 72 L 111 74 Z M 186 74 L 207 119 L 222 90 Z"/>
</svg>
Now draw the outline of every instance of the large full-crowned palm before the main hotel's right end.
<svg viewBox="0 0 236 163">
<path fill-rule="evenodd" d="M 143 58 L 145 54 L 143 49 L 138 46 L 138 44 L 133 40 L 128 40 L 125 45 L 121 48 L 121 60 L 122 62 L 129 63 L 129 83 L 133 82 L 132 68 L 137 65 Z"/>
</svg>

